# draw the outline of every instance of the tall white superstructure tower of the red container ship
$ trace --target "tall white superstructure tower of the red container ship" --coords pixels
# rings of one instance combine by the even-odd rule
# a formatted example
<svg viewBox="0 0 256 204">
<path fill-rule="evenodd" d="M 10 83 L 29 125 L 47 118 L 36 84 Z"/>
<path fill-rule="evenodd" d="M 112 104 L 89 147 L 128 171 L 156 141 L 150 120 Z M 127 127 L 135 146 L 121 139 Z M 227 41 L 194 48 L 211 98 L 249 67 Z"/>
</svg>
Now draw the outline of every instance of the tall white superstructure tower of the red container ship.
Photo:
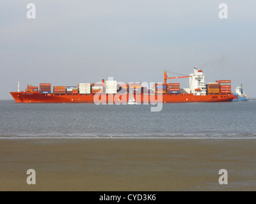
<svg viewBox="0 0 256 204">
<path fill-rule="evenodd" d="M 190 74 L 189 78 L 189 88 L 191 93 L 197 96 L 206 95 L 206 85 L 205 85 L 205 76 L 203 71 L 194 68 L 194 73 Z"/>
</svg>

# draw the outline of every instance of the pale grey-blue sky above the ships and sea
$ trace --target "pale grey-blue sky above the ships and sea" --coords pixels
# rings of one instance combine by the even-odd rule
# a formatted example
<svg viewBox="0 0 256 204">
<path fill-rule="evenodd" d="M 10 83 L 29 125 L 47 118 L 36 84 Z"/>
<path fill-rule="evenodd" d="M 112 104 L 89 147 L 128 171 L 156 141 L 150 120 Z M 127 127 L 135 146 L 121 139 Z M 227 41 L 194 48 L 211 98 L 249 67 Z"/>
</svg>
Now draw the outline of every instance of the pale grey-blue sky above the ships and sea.
<svg viewBox="0 0 256 204">
<path fill-rule="evenodd" d="M 36 19 L 28 19 L 28 3 Z M 220 19 L 220 3 L 228 19 Z M 256 98 L 256 1 L 0 1 L 0 99 L 26 84 L 163 82 L 194 66 Z M 175 75 L 176 77 L 177 75 Z M 171 77 L 171 75 L 170 75 Z M 175 81 L 178 82 L 178 81 Z M 188 79 L 179 80 L 182 87 Z"/>
</svg>

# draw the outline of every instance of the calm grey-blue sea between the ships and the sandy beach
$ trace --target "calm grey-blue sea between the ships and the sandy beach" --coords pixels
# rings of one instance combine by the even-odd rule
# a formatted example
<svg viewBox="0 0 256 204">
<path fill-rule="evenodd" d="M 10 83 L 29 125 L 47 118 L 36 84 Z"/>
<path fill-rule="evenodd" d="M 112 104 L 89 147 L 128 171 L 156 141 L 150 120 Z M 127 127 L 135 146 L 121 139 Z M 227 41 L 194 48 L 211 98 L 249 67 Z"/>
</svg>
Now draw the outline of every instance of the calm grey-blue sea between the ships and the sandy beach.
<svg viewBox="0 0 256 204">
<path fill-rule="evenodd" d="M 0 101 L 0 138 L 256 138 L 256 99 L 150 107 Z"/>
</svg>

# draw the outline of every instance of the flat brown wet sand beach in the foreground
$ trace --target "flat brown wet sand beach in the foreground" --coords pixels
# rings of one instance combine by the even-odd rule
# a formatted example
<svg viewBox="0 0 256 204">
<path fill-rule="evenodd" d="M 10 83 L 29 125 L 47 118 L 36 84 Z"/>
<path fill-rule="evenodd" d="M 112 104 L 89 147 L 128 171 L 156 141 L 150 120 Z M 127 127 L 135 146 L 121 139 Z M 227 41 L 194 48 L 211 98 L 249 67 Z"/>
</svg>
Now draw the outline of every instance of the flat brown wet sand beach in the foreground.
<svg viewBox="0 0 256 204">
<path fill-rule="evenodd" d="M 1 139 L 0 191 L 255 191 L 255 147 L 249 139 Z"/>
</svg>

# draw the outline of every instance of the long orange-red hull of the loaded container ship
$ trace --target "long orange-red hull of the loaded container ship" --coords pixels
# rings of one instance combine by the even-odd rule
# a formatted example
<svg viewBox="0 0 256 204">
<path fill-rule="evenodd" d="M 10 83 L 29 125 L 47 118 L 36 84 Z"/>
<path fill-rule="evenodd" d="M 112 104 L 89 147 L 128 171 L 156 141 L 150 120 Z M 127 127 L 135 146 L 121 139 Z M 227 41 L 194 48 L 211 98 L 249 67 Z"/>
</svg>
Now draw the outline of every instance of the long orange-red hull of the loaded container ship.
<svg viewBox="0 0 256 204">
<path fill-rule="evenodd" d="M 40 94 L 40 92 L 10 92 L 16 103 L 96 103 L 126 104 L 128 94 Z M 191 103 L 232 101 L 233 94 L 214 94 L 194 96 L 193 94 L 134 94 L 136 103 Z"/>
</svg>

